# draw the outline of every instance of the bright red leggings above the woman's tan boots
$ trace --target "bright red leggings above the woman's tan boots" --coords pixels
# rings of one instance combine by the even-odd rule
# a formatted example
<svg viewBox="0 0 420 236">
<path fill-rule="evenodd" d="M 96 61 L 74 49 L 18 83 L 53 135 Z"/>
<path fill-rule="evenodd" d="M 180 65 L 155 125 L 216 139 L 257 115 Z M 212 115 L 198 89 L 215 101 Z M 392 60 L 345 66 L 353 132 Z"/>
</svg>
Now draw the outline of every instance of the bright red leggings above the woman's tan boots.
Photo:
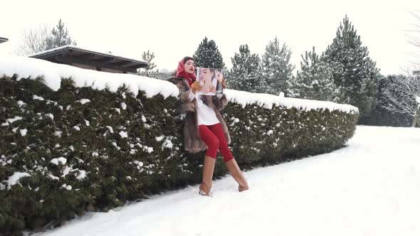
<svg viewBox="0 0 420 236">
<path fill-rule="evenodd" d="M 219 149 L 224 162 L 233 159 L 220 123 L 213 125 L 201 124 L 199 125 L 199 132 L 201 139 L 207 144 L 206 156 L 216 159 L 217 149 Z"/>
</svg>

